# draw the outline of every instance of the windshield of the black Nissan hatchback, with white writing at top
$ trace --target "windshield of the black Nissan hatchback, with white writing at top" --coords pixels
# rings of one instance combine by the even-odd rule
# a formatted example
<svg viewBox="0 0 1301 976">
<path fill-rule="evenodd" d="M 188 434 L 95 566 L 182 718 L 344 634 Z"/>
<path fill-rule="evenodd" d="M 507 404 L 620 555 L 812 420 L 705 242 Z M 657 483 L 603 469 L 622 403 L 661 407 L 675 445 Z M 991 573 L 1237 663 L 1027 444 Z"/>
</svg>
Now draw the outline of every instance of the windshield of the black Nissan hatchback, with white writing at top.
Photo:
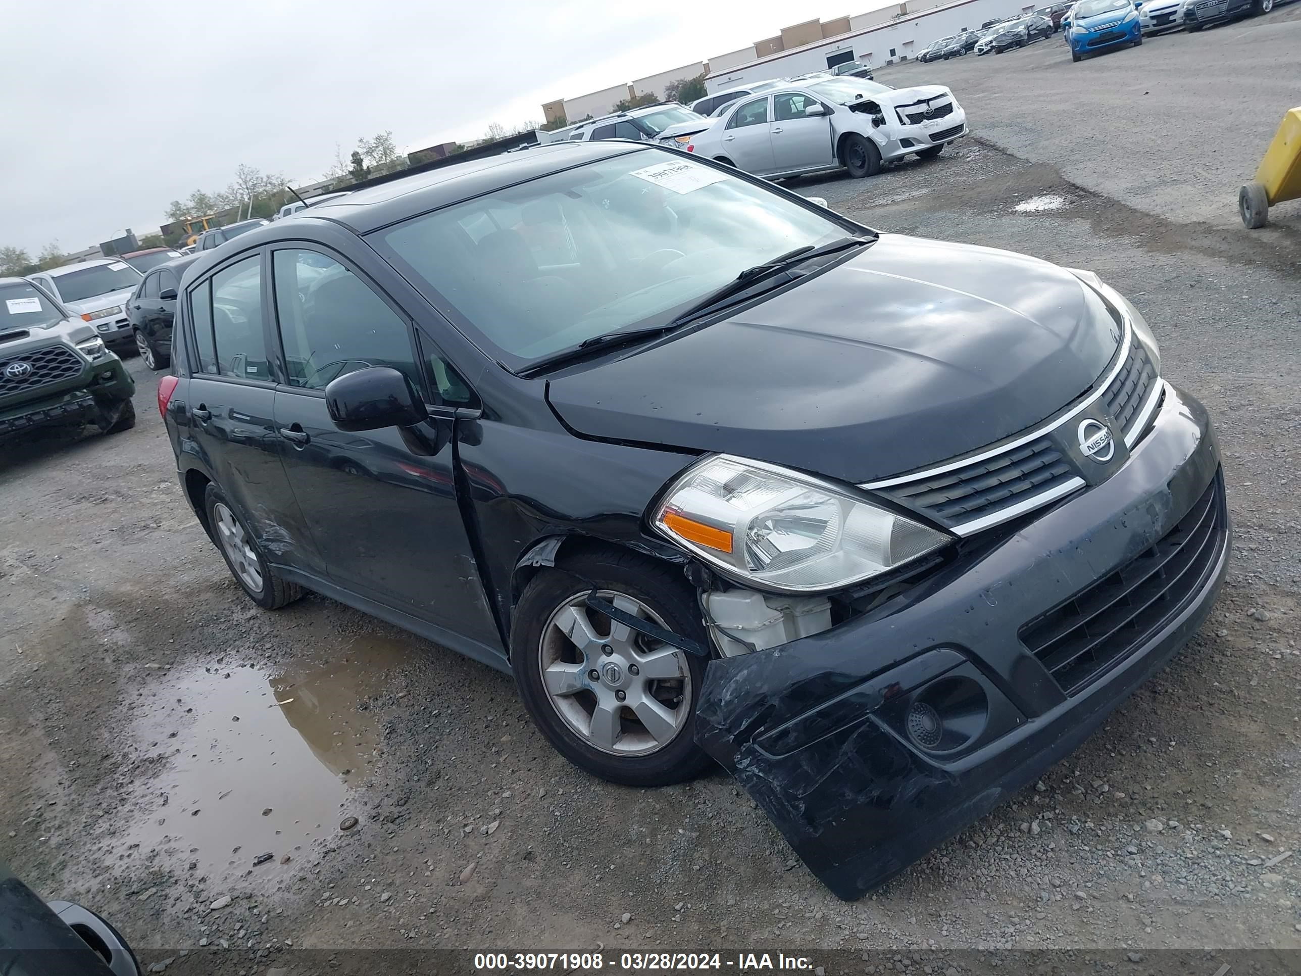
<svg viewBox="0 0 1301 976">
<path fill-rule="evenodd" d="M 755 264 L 844 228 L 657 150 L 479 197 L 377 232 L 379 250 L 509 367 L 665 325 Z M 377 239 L 376 239 L 377 238 Z"/>
</svg>

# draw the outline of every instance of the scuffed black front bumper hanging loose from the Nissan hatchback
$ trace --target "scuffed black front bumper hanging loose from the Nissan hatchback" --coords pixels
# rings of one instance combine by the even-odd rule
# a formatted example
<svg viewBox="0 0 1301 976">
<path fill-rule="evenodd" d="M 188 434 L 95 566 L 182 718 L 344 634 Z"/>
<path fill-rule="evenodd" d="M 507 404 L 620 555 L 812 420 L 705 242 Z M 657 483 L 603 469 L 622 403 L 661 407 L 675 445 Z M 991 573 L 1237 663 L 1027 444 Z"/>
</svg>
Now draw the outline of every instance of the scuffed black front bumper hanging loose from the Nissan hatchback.
<svg viewBox="0 0 1301 976">
<path fill-rule="evenodd" d="M 709 664 L 696 738 L 844 899 L 1034 782 L 1206 618 L 1231 531 L 1205 409 L 1166 389 L 1112 478 L 885 606 Z"/>
</svg>

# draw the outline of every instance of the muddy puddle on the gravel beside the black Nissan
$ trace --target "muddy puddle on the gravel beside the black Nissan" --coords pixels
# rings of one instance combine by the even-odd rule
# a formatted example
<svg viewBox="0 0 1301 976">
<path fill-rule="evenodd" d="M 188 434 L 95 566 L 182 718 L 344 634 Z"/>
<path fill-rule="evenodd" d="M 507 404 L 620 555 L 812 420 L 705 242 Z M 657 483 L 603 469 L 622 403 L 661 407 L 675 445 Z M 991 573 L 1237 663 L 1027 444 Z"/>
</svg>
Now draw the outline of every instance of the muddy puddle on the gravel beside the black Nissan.
<svg viewBox="0 0 1301 976">
<path fill-rule="evenodd" d="M 375 761 L 381 731 L 367 699 L 414 653 L 356 638 L 333 660 L 177 670 L 137 704 L 137 750 L 164 759 L 135 787 L 137 815 L 113 847 L 212 881 L 273 880 L 307 863 L 354 815 L 353 785 Z"/>
</svg>

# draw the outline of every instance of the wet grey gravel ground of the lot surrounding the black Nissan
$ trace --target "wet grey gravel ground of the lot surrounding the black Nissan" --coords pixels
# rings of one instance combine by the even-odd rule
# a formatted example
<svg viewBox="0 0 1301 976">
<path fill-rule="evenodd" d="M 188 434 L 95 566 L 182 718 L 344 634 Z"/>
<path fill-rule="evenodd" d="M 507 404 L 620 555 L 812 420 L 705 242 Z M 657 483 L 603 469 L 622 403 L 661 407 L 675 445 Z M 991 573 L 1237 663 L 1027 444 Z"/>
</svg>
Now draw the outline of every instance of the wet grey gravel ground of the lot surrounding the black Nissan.
<svg viewBox="0 0 1301 976">
<path fill-rule="evenodd" d="M 1080 78 L 1133 104 L 1125 65 L 1157 72 L 1187 46 L 1205 68 L 1248 33 L 1252 57 L 1226 70 L 1249 88 L 1265 25 L 1296 49 L 1293 12 L 1085 65 L 1056 39 L 1000 73 L 937 65 L 982 139 L 1021 131 L 1029 148 L 968 139 L 869 181 L 794 183 L 886 230 L 1026 251 L 1127 293 L 1164 375 L 1216 420 L 1237 534 L 1185 653 L 886 890 L 835 901 L 723 776 L 645 793 L 576 773 L 506 678 L 448 651 L 321 597 L 258 610 L 185 508 L 134 359 L 134 431 L 0 455 L 0 859 L 169 972 L 260 973 L 304 947 L 1301 947 L 1301 854 L 1280 858 L 1301 848 L 1301 249 L 1211 226 L 1201 190 L 1150 206 L 1144 165 L 1192 172 L 1196 142 L 1108 157 L 1147 125 L 1118 113 L 1092 161 L 1072 159 L 1051 121 Z M 1265 120 L 1288 102 L 1258 98 Z M 1227 99 L 1207 111 L 1241 118 L 1248 95 Z M 1041 197 L 1060 208 L 1016 212 Z"/>
</svg>

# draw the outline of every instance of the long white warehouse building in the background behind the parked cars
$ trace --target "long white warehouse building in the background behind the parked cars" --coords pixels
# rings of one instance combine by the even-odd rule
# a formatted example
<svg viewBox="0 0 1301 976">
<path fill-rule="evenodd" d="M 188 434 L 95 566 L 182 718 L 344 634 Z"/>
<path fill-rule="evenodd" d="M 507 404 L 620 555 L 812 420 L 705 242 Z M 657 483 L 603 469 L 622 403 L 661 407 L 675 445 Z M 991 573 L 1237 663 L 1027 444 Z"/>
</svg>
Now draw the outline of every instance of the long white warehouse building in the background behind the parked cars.
<svg viewBox="0 0 1301 976">
<path fill-rule="evenodd" d="M 1028 4 L 1021 0 L 956 0 L 917 13 L 896 14 L 883 22 L 879 20 L 883 12 L 874 10 L 861 18 L 848 18 L 847 33 L 800 47 L 762 57 L 756 57 L 757 48 L 753 47 L 710 57 L 710 73 L 705 78 L 705 87 L 713 95 L 726 88 L 770 78 L 794 78 L 809 72 L 825 72 L 846 61 L 861 61 L 879 68 L 916 57 L 932 42 L 941 38 L 961 30 L 980 30 L 985 21 L 1028 13 L 1036 7 L 1042 7 L 1043 1 Z"/>
</svg>

